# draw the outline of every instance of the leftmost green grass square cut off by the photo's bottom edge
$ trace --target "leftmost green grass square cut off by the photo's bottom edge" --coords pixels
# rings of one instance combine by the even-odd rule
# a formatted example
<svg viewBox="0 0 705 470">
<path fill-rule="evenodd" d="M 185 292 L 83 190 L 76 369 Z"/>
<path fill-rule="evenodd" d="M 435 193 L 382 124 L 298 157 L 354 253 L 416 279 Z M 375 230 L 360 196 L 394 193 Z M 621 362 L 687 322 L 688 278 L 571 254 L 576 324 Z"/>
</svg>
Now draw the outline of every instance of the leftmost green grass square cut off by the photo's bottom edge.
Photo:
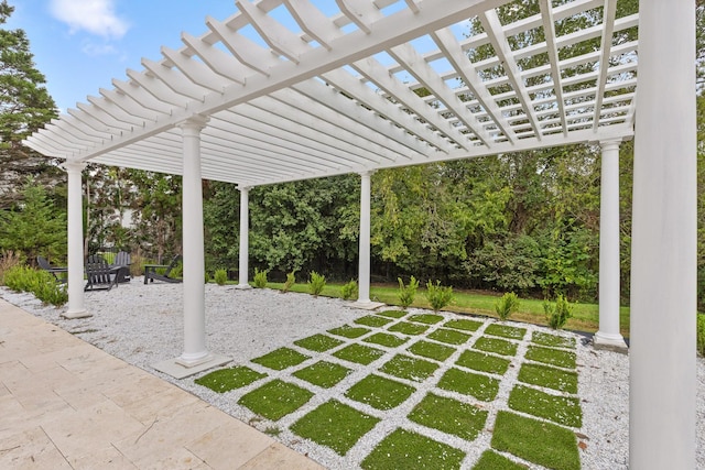
<svg viewBox="0 0 705 470">
<path fill-rule="evenodd" d="M 465 452 L 398 428 L 362 460 L 365 470 L 459 469 Z"/>
</svg>

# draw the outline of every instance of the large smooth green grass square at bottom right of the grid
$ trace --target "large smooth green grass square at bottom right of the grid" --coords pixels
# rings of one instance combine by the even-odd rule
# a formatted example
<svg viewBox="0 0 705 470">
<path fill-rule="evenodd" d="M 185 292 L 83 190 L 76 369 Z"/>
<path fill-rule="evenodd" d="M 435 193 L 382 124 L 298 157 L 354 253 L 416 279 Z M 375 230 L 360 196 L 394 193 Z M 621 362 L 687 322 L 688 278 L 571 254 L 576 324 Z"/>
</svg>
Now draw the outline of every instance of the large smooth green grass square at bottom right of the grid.
<svg viewBox="0 0 705 470">
<path fill-rule="evenodd" d="M 553 470 L 579 470 L 575 434 L 564 427 L 500 411 L 491 446 Z"/>
</svg>

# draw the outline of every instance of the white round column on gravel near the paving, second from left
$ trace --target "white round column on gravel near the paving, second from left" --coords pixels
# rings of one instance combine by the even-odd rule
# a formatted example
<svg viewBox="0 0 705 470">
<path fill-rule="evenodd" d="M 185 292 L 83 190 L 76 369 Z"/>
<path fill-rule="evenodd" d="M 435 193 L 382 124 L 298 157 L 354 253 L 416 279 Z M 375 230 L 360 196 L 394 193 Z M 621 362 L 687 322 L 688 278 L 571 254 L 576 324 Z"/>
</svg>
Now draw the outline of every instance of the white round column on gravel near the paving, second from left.
<svg viewBox="0 0 705 470">
<path fill-rule="evenodd" d="M 184 243 L 184 352 L 177 363 L 189 367 L 208 359 L 206 349 L 205 261 L 200 130 L 207 120 L 188 119 L 178 125 L 183 139 L 183 243 Z"/>
</svg>

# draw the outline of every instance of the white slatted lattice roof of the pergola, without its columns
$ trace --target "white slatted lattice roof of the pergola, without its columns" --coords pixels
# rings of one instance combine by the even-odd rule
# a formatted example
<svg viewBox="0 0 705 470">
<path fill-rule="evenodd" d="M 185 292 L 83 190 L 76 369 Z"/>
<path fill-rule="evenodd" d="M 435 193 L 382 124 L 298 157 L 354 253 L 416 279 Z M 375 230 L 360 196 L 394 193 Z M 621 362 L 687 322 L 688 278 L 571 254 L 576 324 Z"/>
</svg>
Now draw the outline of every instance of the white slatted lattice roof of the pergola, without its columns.
<svg viewBox="0 0 705 470">
<path fill-rule="evenodd" d="M 616 0 L 538 0 L 509 24 L 502 0 L 335 3 L 326 17 L 308 0 L 236 1 L 25 143 L 181 174 L 176 125 L 199 114 L 203 177 L 254 186 L 633 134 L 637 42 L 615 34 L 638 15 L 616 18 Z M 601 24 L 556 35 L 586 15 Z M 511 41 L 536 32 L 545 41 Z M 473 62 L 478 48 L 488 57 Z"/>
</svg>

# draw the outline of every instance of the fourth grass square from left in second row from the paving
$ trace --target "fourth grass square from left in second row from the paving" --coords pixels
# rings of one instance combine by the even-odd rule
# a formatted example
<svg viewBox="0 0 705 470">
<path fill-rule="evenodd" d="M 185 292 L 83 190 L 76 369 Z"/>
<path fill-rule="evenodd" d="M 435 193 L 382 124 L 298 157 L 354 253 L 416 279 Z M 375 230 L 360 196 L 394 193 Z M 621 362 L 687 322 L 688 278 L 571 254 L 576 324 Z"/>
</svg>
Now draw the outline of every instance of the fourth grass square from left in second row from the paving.
<svg viewBox="0 0 705 470">
<path fill-rule="evenodd" d="M 488 415 L 489 412 L 469 403 L 430 393 L 414 406 L 409 419 L 466 440 L 475 440 L 482 430 Z"/>
</svg>

